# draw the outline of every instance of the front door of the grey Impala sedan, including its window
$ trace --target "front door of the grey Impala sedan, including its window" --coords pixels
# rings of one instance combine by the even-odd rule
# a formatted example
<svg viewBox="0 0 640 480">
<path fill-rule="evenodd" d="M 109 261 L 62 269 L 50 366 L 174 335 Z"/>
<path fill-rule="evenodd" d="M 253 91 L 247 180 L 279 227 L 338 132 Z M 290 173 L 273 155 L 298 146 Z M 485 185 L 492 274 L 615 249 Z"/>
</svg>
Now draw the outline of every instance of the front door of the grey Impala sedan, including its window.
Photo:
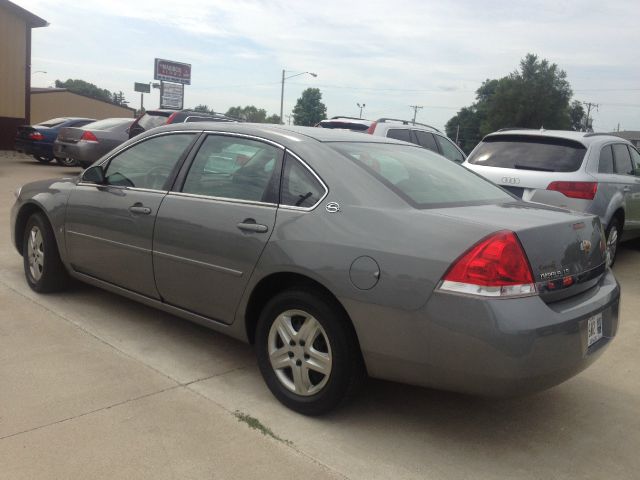
<svg viewBox="0 0 640 480">
<path fill-rule="evenodd" d="M 81 179 L 69 197 L 67 252 L 74 270 L 159 298 L 151 245 L 158 208 L 195 133 L 151 137 L 104 164 L 104 184 Z"/>
</svg>

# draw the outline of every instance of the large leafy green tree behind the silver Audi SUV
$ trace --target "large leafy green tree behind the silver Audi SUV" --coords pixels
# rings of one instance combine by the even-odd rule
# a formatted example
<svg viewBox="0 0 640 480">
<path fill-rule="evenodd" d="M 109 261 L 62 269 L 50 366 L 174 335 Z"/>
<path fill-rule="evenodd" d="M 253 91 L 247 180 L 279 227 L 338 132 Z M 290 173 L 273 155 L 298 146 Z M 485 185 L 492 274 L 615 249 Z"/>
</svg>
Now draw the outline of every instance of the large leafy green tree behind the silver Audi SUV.
<svg viewBox="0 0 640 480">
<path fill-rule="evenodd" d="M 487 79 L 476 91 L 476 101 L 461 109 L 446 125 L 465 152 L 488 133 L 501 128 L 576 129 L 582 118 L 579 103 L 569 103 L 573 92 L 567 75 L 555 63 L 527 54 L 518 70 L 499 79 Z"/>
</svg>

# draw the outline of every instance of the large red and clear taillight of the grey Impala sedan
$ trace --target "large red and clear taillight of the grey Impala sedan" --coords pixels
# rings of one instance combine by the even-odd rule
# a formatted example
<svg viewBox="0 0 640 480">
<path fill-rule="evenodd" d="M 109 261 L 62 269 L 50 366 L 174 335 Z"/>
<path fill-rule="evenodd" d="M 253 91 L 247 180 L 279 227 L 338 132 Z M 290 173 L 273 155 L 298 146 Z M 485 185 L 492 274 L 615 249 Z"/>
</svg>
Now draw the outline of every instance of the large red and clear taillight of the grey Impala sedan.
<svg viewBox="0 0 640 480">
<path fill-rule="evenodd" d="M 536 291 L 522 245 L 508 230 L 496 232 L 467 250 L 442 280 L 442 290 L 491 297 Z"/>
</svg>

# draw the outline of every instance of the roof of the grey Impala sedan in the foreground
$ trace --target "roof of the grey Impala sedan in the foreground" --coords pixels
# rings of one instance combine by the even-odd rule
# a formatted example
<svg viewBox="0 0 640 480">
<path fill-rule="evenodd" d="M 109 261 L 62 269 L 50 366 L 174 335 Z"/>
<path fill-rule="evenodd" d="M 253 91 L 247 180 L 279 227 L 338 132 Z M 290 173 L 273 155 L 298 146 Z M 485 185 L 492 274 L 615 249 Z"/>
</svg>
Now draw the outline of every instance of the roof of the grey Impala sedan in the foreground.
<svg viewBox="0 0 640 480">
<path fill-rule="evenodd" d="M 349 130 L 300 127 L 293 125 L 276 125 L 271 123 L 227 123 L 227 122 L 197 122 L 175 123 L 151 129 L 147 132 L 159 133 L 162 131 L 197 130 L 216 131 L 229 133 L 243 133 L 256 135 L 273 140 L 278 143 L 292 145 L 297 142 L 316 140 L 318 142 L 360 142 L 360 143 L 396 143 L 400 145 L 416 146 L 400 140 L 387 137 L 368 135 L 362 132 Z"/>
</svg>

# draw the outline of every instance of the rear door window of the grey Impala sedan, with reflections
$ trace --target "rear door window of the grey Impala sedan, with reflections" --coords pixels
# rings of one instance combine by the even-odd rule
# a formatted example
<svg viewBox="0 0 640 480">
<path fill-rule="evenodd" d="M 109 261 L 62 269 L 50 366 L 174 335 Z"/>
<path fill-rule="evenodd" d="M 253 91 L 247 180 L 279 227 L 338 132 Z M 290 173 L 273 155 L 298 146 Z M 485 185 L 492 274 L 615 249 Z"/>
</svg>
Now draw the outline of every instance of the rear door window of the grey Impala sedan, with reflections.
<svg viewBox="0 0 640 480">
<path fill-rule="evenodd" d="M 209 135 L 182 191 L 193 195 L 275 203 L 282 151 L 268 143 Z"/>
</svg>

